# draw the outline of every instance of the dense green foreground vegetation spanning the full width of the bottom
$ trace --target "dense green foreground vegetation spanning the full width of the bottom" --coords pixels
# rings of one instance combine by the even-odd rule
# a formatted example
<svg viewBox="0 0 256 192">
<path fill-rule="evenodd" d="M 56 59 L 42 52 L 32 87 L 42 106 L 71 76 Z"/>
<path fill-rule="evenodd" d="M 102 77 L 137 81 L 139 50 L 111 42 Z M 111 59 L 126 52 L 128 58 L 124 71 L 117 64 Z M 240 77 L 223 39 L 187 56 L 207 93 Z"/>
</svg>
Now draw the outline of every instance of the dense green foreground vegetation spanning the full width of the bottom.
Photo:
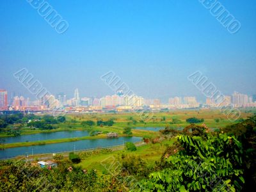
<svg viewBox="0 0 256 192">
<path fill-rule="evenodd" d="M 42 119 L 40 119 L 42 120 Z M 162 119 L 164 120 L 164 119 Z M 105 121 L 106 122 L 106 121 Z M 99 125 L 102 122 L 100 122 Z M 84 122 L 92 126 L 92 122 Z M 256 186 L 256 116 L 211 131 L 191 124 L 182 131 L 166 126 L 160 138 L 144 138 L 166 148 L 161 159 L 148 163 L 134 156 L 138 147 L 125 143 L 125 150 L 104 160 L 102 173 L 84 170 L 76 163 L 92 152 L 56 156 L 57 168 L 48 170 L 26 161 L 0 162 L 3 191 L 248 191 Z M 124 131 L 131 131 L 125 129 Z M 175 140 L 162 145 L 164 140 Z M 137 150 L 136 150 L 137 148 Z M 111 154 L 106 150 L 100 152 Z M 112 156 L 111 156 L 112 157 Z"/>
</svg>

